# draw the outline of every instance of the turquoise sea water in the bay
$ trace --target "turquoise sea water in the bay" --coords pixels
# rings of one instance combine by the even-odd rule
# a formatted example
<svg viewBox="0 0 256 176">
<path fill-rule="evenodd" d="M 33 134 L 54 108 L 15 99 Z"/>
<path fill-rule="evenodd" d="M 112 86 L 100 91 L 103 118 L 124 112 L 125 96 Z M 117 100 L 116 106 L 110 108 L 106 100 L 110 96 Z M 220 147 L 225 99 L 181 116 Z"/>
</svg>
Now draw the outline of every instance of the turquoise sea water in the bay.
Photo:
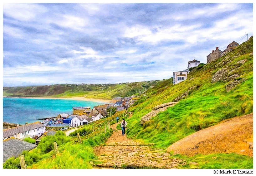
<svg viewBox="0 0 256 176">
<path fill-rule="evenodd" d="M 90 106 L 101 102 L 61 100 L 61 99 L 29 99 L 3 98 L 3 121 L 25 124 L 38 121 L 38 118 L 56 117 L 60 113 L 72 114 L 72 107 Z"/>
</svg>

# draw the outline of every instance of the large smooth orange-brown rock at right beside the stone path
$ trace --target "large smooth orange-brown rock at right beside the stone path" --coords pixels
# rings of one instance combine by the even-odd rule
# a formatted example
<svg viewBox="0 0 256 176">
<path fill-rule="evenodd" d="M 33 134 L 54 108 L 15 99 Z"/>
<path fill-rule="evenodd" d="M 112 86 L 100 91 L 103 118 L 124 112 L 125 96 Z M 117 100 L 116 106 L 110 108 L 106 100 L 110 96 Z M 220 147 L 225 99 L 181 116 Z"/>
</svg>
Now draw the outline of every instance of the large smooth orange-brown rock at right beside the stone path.
<svg viewBox="0 0 256 176">
<path fill-rule="evenodd" d="M 170 151 L 187 156 L 235 152 L 252 157 L 253 113 L 197 131 L 169 146 Z"/>
</svg>

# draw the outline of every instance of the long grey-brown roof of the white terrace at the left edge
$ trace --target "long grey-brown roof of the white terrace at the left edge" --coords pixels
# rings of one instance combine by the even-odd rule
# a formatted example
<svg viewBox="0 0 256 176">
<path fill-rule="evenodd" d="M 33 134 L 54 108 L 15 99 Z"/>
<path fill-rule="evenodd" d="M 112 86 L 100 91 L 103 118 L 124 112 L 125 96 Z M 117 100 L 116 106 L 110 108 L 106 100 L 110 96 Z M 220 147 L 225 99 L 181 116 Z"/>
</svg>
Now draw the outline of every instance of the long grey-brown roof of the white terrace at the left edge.
<svg viewBox="0 0 256 176">
<path fill-rule="evenodd" d="M 34 123 L 28 123 L 27 125 L 16 126 L 3 130 L 3 138 L 14 136 L 18 133 L 24 133 L 25 131 L 34 130 L 45 126 L 40 121 Z"/>
</svg>

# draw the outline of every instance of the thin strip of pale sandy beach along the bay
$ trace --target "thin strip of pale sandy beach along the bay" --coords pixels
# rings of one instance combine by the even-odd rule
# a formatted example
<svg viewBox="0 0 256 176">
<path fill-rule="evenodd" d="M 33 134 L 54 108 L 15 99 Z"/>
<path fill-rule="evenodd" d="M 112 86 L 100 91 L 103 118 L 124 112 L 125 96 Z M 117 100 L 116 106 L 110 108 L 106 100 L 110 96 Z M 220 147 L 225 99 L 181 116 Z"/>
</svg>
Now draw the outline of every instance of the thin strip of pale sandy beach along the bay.
<svg viewBox="0 0 256 176">
<path fill-rule="evenodd" d="M 89 102 L 100 102 L 100 103 L 111 103 L 113 100 L 109 99 L 99 99 L 99 98 L 84 98 L 84 97 L 70 97 L 70 98 L 57 98 L 57 97 L 7 97 L 3 98 L 26 98 L 26 99 L 59 99 L 59 100 L 79 100 L 79 101 L 89 101 Z"/>
</svg>

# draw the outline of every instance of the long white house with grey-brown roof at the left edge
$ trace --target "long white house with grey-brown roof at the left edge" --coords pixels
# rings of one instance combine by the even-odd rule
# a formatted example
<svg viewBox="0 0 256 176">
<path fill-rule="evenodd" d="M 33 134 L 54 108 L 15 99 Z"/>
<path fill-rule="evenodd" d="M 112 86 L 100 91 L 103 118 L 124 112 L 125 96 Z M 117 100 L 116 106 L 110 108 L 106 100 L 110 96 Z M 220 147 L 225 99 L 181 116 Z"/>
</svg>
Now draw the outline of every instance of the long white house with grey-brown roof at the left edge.
<svg viewBox="0 0 256 176">
<path fill-rule="evenodd" d="M 16 126 L 3 130 L 3 140 L 15 137 L 18 139 L 24 139 L 26 137 L 34 138 L 40 136 L 46 131 L 46 126 L 37 121 L 34 123 L 27 123 L 22 126 Z"/>
</svg>

